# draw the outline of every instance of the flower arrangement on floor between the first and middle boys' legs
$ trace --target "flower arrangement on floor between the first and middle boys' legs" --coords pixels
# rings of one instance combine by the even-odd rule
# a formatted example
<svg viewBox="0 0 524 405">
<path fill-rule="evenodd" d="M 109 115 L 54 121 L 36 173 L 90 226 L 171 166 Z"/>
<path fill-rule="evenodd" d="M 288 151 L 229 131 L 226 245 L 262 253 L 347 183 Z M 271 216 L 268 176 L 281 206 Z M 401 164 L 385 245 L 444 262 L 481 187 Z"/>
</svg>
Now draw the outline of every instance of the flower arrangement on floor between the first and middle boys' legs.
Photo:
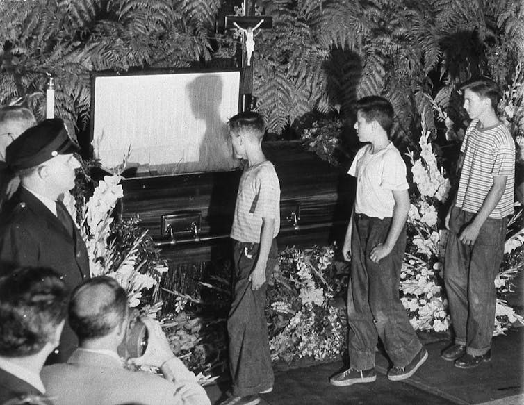
<svg viewBox="0 0 524 405">
<path fill-rule="evenodd" d="M 345 311 L 332 303 L 333 258 L 333 247 L 281 251 L 266 307 L 273 361 L 321 361 L 341 353 Z"/>
</svg>

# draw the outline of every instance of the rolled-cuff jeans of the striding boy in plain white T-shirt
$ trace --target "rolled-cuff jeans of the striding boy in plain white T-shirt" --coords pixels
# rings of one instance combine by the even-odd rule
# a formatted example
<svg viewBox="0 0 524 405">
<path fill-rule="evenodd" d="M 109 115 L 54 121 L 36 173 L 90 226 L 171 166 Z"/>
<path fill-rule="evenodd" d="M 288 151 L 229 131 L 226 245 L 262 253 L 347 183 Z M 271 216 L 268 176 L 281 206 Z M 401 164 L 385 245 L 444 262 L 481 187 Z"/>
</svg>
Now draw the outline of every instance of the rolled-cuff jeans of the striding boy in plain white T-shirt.
<svg viewBox="0 0 524 405">
<path fill-rule="evenodd" d="M 355 214 L 352 227 L 352 261 L 347 289 L 350 366 L 375 367 L 377 338 L 382 340 L 393 365 L 411 363 L 422 348 L 399 297 L 400 268 L 406 248 L 406 227 L 388 256 L 374 263 L 373 247 L 384 243 L 391 218 Z"/>
</svg>

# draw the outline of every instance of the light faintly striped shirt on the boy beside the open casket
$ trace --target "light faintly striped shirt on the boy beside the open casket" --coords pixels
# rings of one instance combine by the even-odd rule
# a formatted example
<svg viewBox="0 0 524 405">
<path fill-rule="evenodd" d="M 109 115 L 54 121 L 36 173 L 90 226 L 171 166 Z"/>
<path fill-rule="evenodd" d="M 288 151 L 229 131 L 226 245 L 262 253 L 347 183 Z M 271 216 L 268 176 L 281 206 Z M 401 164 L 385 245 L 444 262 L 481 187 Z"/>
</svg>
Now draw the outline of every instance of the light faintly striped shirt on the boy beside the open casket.
<svg viewBox="0 0 524 405">
<path fill-rule="evenodd" d="M 260 243 L 262 218 L 275 219 L 275 238 L 280 230 L 280 183 L 268 160 L 247 167 L 240 177 L 231 238 Z"/>
</svg>

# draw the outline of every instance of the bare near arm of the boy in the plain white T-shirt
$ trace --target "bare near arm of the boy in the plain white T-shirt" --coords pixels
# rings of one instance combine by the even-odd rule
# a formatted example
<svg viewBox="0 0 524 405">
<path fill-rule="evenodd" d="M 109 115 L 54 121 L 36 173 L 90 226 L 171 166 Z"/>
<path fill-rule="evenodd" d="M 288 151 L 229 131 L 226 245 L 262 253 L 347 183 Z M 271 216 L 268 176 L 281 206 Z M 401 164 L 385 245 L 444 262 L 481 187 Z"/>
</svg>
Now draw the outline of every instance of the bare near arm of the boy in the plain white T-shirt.
<svg viewBox="0 0 524 405">
<path fill-rule="evenodd" d="M 407 190 L 393 190 L 393 199 L 395 199 L 395 207 L 393 208 L 393 220 L 391 220 L 388 236 L 384 243 L 375 246 L 370 254 L 371 261 L 375 263 L 379 263 L 380 259 L 391 253 L 409 213 L 409 193 Z"/>
</svg>

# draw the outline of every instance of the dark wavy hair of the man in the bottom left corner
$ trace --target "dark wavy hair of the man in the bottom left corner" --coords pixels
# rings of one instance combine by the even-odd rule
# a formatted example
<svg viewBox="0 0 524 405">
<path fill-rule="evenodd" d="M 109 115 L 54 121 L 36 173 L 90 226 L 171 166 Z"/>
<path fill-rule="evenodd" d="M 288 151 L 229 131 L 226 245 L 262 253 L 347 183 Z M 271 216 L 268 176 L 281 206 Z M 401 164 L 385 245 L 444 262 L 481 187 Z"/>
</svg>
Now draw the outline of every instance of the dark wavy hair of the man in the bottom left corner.
<svg viewBox="0 0 524 405">
<path fill-rule="evenodd" d="M 0 278 L 0 355 L 31 356 L 54 338 L 67 312 L 60 274 L 19 267 Z"/>
</svg>

